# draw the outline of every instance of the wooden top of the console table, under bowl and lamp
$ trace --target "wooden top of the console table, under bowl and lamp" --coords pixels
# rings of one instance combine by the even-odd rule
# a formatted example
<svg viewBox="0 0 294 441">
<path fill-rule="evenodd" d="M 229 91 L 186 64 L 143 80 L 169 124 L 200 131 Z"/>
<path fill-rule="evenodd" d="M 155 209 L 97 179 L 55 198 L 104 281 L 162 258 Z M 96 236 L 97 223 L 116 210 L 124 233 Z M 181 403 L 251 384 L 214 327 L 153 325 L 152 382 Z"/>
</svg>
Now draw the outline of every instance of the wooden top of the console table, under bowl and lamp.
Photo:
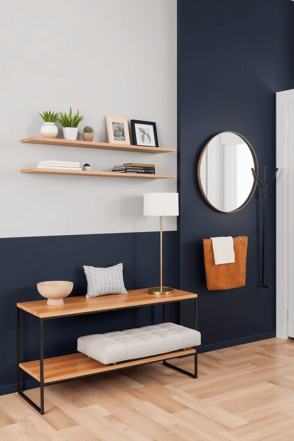
<svg viewBox="0 0 294 441">
<path fill-rule="evenodd" d="M 169 295 L 153 295 L 148 288 L 133 289 L 127 294 L 107 294 L 91 299 L 86 296 L 65 297 L 63 305 L 47 305 L 47 300 L 17 303 L 17 306 L 39 318 L 52 318 L 66 315 L 87 314 L 90 312 L 110 311 L 132 308 L 134 306 L 156 305 L 160 303 L 178 302 L 180 300 L 196 299 L 197 294 L 174 289 Z"/>
</svg>

